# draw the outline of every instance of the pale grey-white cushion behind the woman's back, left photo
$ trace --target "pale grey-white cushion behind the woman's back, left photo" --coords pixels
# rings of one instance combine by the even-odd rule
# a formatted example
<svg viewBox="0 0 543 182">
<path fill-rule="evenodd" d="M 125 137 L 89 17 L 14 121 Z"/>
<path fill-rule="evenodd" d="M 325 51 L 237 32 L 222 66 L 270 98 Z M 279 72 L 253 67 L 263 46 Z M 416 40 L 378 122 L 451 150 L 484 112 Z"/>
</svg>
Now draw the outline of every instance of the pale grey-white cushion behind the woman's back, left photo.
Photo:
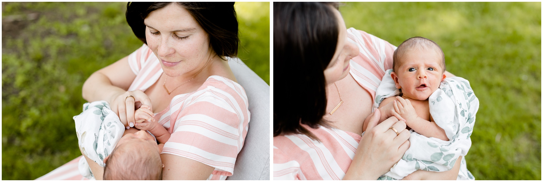
<svg viewBox="0 0 543 182">
<path fill-rule="evenodd" d="M 238 58 L 228 64 L 249 99 L 249 131 L 226 180 L 270 180 L 270 86 Z"/>
</svg>

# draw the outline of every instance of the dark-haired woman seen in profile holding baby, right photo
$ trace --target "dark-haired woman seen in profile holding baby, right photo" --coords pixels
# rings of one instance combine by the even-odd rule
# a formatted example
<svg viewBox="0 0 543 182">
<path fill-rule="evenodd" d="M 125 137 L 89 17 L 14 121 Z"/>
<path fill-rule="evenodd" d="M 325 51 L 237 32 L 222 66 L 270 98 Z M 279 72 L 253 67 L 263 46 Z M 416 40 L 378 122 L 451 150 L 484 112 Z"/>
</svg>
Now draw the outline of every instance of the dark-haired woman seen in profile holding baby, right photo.
<svg viewBox="0 0 543 182">
<path fill-rule="evenodd" d="M 274 60 L 289 73 L 275 79 L 289 91 L 288 104 L 274 108 L 275 180 L 376 180 L 400 160 L 409 148 L 405 122 L 371 113 L 395 48 L 345 29 L 337 3 L 274 3 Z M 404 179 L 456 179 L 459 162 Z"/>
</svg>

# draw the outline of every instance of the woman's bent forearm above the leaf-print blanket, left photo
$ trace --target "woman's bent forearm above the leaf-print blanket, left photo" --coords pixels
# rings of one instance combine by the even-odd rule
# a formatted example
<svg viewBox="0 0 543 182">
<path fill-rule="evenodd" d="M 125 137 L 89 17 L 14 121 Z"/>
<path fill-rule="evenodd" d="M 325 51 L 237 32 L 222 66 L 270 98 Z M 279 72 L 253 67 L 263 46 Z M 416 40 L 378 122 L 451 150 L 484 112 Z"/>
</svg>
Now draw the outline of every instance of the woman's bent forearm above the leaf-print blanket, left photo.
<svg viewBox="0 0 543 182">
<path fill-rule="evenodd" d="M 113 86 L 109 78 L 104 74 L 94 72 L 83 84 L 83 91 L 81 93 L 87 102 L 107 101 L 111 103 L 113 99 L 124 92 L 125 90 Z"/>
</svg>

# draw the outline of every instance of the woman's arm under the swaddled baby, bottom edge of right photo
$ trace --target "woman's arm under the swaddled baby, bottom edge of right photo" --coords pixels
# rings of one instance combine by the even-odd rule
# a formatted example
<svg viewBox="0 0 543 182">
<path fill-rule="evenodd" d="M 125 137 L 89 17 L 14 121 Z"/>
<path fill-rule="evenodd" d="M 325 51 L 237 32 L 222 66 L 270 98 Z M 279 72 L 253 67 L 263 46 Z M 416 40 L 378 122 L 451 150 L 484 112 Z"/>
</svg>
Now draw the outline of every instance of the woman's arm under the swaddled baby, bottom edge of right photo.
<svg viewBox="0 0 543 182">
<path fill-rule="evenodd" d="M 415 172 L 407 175 L 402 180 L 456 180 L 458 172 L 460 171 L 460 161 L 462 156 L 459 156 L 454 163 L 454 167 L 449 171 L 434 172 L 434 171 L 422 171 L 416 170 Z"/>
</svg>

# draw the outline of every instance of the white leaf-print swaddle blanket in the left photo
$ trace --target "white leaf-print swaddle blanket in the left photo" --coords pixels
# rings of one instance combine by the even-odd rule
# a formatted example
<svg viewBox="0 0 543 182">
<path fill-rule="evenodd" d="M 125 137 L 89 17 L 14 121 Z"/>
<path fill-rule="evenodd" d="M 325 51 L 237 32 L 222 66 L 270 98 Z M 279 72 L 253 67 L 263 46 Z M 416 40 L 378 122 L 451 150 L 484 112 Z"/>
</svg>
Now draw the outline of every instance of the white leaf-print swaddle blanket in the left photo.
<svg viewBox="0 0 543 182">
<path fill-rule="evenodd" d="M 74 116 L 73 120 L 81 152 L 104 167 L 104 158 L 111 154 L 123 136 L 121 120 L 105 101 L 83 104 L 83 112 Z M 79 172 L 85 178 L 94 179 L 85 158 L 79 160 Z"/>
</svg>

